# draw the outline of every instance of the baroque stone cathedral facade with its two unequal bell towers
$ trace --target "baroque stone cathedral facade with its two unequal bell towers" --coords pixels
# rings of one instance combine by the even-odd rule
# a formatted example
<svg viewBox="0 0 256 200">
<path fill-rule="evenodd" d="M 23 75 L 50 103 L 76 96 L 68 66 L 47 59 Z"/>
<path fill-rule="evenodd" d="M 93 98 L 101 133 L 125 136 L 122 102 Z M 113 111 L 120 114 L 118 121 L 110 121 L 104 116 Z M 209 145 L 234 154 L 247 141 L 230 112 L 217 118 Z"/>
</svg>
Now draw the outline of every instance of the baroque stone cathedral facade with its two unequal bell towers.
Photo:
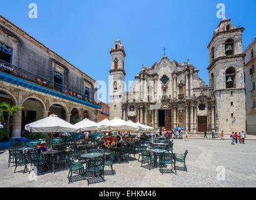
<svg viewBox="0 0 256 200">
<path fill-rule="evenodd" d="M 245 131 L 243 27 L 222 19 L 209 49 L 209 86 L 189 63 L 170 61 L 143 66 L 125 92 L 125 49 L 116 40 L 110 50 L 110 119 L 119 117 L 166 130 Z"/>
</svg>

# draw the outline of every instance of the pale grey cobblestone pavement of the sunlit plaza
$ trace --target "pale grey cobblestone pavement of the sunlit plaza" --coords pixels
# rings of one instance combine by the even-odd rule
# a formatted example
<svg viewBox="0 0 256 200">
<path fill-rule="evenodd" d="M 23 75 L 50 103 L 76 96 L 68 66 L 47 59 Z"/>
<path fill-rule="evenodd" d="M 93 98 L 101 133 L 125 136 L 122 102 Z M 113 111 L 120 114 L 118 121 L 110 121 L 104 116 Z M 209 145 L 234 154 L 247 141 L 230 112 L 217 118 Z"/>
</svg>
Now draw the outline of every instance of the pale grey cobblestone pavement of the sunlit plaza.
<svg viewBox="0 0 256 200">
<path fill-rule="evenodd" d="M 29 173 L 23 174 L 24 167 L 8 168 L 8 151 L 0 151 L 0 186 L 1 187 L 256 187 L 256 141 L 231 145 L 228 140 L 191 139 L 175 140 L 174 153 L 188 150 L 187 169 L 177 164 L 177 175 L 170 170 L 161 174 L 159 168 L 147 169 L 147 164 L 138 162 L 138 154 L 129 163 L 115 163 L 114 175 L 105 175 L 105 183 L 87 185 L 87 180 L 76 176 L 68 184 L 68 169 L 56 173 L 39 174 L 37 181 L 29 181 Z M 225 168 L 225 181 L 217 180 L 217 167 Z M 166 169 L 171 169 L 168 165 Z M 31 173 L 32 174 L 32 173 Z M 105 174 L 111 174 L 105 168 Z M 97 180 L 95 180 L 97 182 Z"/>
</svg>

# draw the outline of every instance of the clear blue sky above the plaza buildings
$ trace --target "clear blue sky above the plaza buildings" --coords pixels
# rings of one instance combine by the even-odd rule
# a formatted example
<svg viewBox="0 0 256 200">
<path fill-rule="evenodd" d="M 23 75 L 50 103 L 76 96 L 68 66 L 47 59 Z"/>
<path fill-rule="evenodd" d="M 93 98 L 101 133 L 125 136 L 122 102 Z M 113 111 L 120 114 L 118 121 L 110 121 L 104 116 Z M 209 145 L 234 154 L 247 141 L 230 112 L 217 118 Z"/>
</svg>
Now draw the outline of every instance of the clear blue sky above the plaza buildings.
<svg viewBox="0 0 256 200">
<path fill-rule="evenodd" d="M 37 19 L 28 17 L 32 2 L 38 5 Z M 225 4 L 234 26 L 245 27 L 245 49 L 256 37 L 254 0 L 1 0 L 0 14 L 96 81 L 108 82 L 109 51 L 119 36 L 126 83 L 134 81 L 142 64 L 159 63 L 165 46 L 170 61 L 190 59 L 208 84 L 207 46 L 221 20 L 218 3 Z"/>
</svg>

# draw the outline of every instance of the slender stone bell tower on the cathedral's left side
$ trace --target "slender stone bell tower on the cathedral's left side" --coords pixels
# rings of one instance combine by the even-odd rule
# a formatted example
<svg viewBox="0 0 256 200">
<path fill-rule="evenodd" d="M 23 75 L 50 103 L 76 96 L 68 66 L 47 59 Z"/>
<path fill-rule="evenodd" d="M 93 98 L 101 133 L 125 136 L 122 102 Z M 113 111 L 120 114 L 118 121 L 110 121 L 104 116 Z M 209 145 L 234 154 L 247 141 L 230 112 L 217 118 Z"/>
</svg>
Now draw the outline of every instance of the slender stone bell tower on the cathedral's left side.
<svg viewBox="0 0 256 200">
<path fill-rule="evenodd" d="M 125 94 L 125 49 L 120 40 L 110 50 L 110 120 L 123 119 L 123 98 Z"/>
</svg>

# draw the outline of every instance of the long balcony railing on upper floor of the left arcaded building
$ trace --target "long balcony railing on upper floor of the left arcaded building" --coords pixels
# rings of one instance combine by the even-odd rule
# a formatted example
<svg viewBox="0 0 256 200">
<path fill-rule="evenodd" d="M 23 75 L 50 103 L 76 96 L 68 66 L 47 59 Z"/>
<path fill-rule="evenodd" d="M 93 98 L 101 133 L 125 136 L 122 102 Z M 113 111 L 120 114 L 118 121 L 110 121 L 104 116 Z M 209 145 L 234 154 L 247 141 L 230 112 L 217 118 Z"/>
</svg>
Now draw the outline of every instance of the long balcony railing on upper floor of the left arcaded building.
<svg viewBox="0 0 256 200">
<path fill-rule="evenodd" d="M 74 91 L 73 89 L 67 88 L 66 86 L 54 83 L 54 81 L 33 74 L 29 71 L 26 71 L 25 69 L 19 68 L 18 66 L 14 66 L 13 64 L 6 63 L 1 59 L 0 70 L 4 73 L 11 74 L 18 78 L 43 86 L 45 88 L 53 89 L 54 91 L 58 91 L 59 93 L 64 93 L 66 95 L 72 96 L 73 98 L 81 99 L 88 103 L 95 104 L 96 106 L 101 106 L 101 103 L 96 103 L 95 99 L 90 98 L 85 94 L 81 94 L 78 91 Z"/>
</svg>

